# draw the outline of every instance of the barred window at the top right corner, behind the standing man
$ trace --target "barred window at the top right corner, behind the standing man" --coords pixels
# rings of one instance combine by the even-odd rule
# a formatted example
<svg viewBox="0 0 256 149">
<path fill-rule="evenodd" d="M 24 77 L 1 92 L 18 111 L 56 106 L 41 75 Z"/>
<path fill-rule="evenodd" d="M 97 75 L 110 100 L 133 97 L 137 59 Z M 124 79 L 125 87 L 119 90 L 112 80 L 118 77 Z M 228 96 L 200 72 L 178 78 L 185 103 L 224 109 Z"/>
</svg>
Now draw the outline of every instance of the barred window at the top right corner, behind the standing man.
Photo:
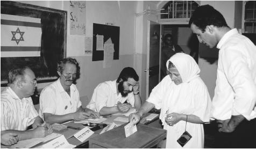
<svg viewBox="0 0 256 149">
<path fill-rule="evenodd" d="M 248 1 L 245 3 L 244 33 L 256 33 L 256 1 Z"/>
</svg>

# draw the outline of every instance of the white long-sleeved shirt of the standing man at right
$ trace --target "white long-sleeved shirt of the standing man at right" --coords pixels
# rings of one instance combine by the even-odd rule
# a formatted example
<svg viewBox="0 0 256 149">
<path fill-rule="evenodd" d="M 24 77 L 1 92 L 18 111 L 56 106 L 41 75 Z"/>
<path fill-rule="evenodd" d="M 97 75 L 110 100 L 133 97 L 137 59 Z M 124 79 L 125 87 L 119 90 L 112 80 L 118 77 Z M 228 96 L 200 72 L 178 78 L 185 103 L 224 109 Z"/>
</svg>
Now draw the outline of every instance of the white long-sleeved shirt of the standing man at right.
<svg viewBox="0 0 256 149">
<path fill-rule="evenodd" d="M 219 50 L 212 117 L 226 120 L 231 115 L 256 117 L 256 47 L 237 29 L 231 29 L 217 44 Z"/>
</svg>

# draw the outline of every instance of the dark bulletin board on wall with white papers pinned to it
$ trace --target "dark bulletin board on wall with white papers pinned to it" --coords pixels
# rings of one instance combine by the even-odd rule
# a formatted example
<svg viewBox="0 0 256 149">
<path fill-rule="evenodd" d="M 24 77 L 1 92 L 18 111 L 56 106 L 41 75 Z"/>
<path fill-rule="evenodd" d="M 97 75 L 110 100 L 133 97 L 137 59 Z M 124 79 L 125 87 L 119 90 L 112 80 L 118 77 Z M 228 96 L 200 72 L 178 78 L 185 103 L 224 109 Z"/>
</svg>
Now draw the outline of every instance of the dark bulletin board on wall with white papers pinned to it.
<svg viewBox="0 0 256 149">
<path fill-rule="evenodd" d="M 111 38 L 115 50 L 113 53 L 113 59 L 119 59 L 120 27 L 95 23 L 93 24 L 93 61 L 103 61 L 104 51 L 96 50 L 97 35 L 103 35 L 104 42 Z"/>
</svg>

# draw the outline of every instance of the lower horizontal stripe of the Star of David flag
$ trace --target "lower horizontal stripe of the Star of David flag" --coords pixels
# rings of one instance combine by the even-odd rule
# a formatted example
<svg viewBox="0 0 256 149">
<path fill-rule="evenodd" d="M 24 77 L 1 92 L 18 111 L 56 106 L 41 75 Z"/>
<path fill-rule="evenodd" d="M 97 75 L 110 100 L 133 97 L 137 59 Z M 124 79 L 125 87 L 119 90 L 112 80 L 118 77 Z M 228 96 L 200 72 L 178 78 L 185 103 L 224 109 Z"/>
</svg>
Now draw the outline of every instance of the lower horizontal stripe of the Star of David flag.
<svg viewBox="0 0 256 149">
<path fill-rule="evenodd" d="M 41 47 L 12 47 L 1 46 L 1 51 L 40 51 Z"/>
</svg>

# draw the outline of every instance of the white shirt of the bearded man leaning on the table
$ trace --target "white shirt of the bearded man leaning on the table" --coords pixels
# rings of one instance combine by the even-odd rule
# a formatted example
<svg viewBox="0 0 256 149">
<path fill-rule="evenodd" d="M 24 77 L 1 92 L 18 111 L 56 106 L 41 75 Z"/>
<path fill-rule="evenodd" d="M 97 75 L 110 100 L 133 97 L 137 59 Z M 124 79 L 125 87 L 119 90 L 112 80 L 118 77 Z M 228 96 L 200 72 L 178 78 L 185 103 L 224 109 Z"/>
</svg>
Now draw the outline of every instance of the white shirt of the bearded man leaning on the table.
<svg viewBox="0 0 256 149">
<path fill-rule="evenodd" d="M 99 84 L 95 88 L 87 108 L 99 112 L 103 107 L 113 107 L 116 106 L 118 101 L 124 103 L 126 100 L 127 103 L 134 107 L 133 92 L 129 93 L 126 97 L 122 97 L 120 93 L 117 94 L 116 81 L 105 81 Z"/>
</svg>

